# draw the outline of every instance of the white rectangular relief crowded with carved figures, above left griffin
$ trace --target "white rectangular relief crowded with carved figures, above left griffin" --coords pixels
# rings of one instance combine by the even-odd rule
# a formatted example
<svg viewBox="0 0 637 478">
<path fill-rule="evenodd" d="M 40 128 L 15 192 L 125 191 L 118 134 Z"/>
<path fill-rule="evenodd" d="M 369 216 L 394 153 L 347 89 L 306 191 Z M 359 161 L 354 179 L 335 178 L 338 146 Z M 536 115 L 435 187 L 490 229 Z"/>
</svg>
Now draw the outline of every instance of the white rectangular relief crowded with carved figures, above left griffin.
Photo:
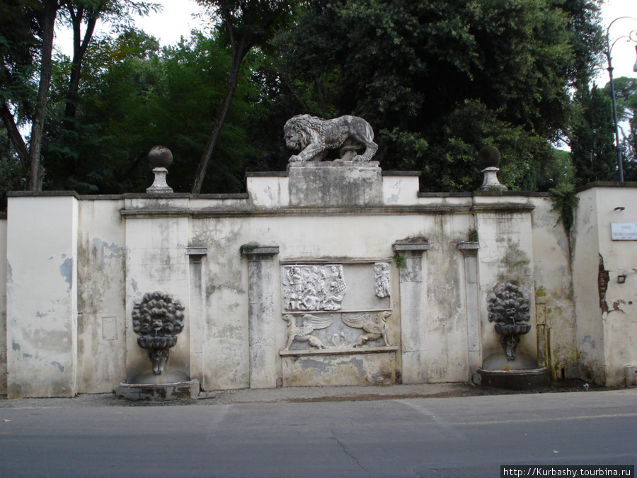
<svg viewBox="0 0 637 478">
<path fill-rule="evenodd" d="M 343 266 L 284 266 L 283 308 L 285 310 L 339 310 L 348 290 Z"/>
</svg>

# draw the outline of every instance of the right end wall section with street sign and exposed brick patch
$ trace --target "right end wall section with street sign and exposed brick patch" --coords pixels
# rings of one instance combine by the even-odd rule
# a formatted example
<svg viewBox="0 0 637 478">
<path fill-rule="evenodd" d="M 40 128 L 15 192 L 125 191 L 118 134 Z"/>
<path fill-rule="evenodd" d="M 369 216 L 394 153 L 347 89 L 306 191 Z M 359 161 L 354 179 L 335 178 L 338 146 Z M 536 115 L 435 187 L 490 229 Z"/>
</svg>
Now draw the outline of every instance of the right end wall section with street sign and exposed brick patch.
<svg viewBox="0 0 637 478">
<path fill-rule="evenodd" d="M 631 187 L 600 186 L 578 196 L 573 283 L 582 373 L 620 385 L 624 366 L 637 363 L 637 249 L 635 241 L 612 240 L 611 222 L 637 222 L 637 195 Z"/>
</svg>

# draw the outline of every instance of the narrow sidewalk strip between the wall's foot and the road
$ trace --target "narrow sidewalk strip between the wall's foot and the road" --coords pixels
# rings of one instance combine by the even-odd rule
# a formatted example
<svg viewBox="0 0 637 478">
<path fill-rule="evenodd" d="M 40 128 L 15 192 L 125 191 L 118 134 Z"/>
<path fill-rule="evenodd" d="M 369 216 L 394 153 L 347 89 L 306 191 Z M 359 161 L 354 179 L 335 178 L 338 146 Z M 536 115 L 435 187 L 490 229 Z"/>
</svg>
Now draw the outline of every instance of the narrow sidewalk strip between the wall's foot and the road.
<svg viewBox="0 0 637 478">
<path fill-rule="evenodd" d="M 623 389 L 623 387 L 621 387 Z M 550 387 L 534 391 L 515 391 L 477 387 L 472 383 L 437 383 L 423 385 L 391 385 L 388 387 L 290 387 L 277 389 L 235 389 L 201 392 L 197 399 L 176 402 L 129 402 L 115 394 L 83 394 L 74 398 L 7 399 L 0 396 L 0 409 L 5 408 L 67 408 L 77 406 L 180 406 L 285 402 L 357 402 L 409 398 L 451 398 L 480 395 L 585 392 L 587 389 L 607 390 L 606 387 L 585 387 L 581 380 L 554 382 Z"/>
</svg>

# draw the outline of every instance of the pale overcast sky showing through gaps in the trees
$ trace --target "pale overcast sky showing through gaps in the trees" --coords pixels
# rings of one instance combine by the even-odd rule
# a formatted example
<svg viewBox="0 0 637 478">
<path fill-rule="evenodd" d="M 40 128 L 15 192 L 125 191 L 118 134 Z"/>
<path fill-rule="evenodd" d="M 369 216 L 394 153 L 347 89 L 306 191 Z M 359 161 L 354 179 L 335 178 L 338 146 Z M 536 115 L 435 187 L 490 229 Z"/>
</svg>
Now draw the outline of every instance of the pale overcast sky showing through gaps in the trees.
<svg viewBox="0 0 637 478">
<path fill-rule="evenodd" d="M 146 33 L 158 38 L 162 46 L 174 45 L 181 36 L 188 36 L 193 28 L 202 28 L 202 23 L 198 18 L 193 18 L 193 13 L 197 13 L 200 8 L 195 0 L 154 0 L 154 3 L 163 6 L 162 13 L 153 13 L 151 16 L 136 18 L 135 24 Z M 606 28 L 614 18 L 620 16 L 631 16 L 633 19 L 623 19 L 616 21 L 610 30 L 611 41 L 629 35 L 631 30 L 635 30 L 633 38 L 637 40 L 637 0 L 606 0 L 602 6 L 603 25 Z M 70 55 L 69 49 L 70 30 L 59 28 L 56 42 L 61 50 Z M 616 42 L 612 50 L 612 61 L 614 76 L 637 77 L 633 72 L 633 65 L 637 61 L 636 42 L 626 42 L 620 39 Z M 603 86 L 608 81 L 608 72 L 602 69 L 599 72 L 597 83 Z"/>
</svg>

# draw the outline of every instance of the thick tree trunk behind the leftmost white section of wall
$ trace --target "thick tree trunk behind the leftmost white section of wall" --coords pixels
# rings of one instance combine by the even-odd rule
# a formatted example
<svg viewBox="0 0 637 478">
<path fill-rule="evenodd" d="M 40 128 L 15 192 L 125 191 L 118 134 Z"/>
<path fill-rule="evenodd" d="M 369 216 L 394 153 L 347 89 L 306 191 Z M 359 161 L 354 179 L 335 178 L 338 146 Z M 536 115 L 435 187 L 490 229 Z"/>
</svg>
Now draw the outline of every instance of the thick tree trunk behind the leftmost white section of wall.
<svg viewBox="0 0 637 478">
<path fill-rule="evenodd" d="M 51 84 L 51 57 L 53 51 L 53 32 L 55 16 L 59 5 L 57 0 L 46 0 L 44 7 L 44 20 L 42 22 L 42 57 L 40 64 L 40 86 L 38 87 L 38 102 L 35 115 L 31 123 L 31 141 L 29 144 L 29 164 L 27 174 L 27 190 L 42 190 L 44 168 L 40 158 L 42 149 L 42 131 L 47 111 L 47 96 Z"/>
</svg>

